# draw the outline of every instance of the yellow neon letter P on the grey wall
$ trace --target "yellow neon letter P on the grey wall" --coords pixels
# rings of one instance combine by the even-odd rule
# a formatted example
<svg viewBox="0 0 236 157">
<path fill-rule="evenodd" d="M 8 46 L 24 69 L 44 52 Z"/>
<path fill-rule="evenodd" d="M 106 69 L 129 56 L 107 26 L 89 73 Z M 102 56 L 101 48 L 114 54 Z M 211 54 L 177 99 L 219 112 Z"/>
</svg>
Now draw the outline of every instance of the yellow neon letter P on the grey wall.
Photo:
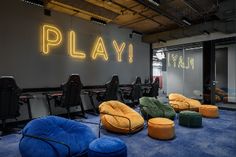
<svg viewBox="0 0 236 157">
<path fill-rule="evenodd" d="M 61 31 L 51 25 L 43 26 L 43 53 L 48 54 L 50 47 L 58 46 L 62 41 Z"/>
</svg>

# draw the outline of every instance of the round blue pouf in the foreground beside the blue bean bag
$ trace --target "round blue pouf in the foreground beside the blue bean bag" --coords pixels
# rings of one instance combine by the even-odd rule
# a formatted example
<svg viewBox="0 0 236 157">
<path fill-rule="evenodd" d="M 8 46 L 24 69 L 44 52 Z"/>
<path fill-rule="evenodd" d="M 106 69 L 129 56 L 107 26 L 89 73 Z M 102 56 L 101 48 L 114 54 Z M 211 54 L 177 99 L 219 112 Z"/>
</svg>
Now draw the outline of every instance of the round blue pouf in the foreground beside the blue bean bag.
<svg viewBox="0 0 236 157">
<path fill-rule="evenodd" d="M 88 157 L 127 157 L 127 146 L 119 138 L 104 136 L 90 143 Z"/>
</svg>

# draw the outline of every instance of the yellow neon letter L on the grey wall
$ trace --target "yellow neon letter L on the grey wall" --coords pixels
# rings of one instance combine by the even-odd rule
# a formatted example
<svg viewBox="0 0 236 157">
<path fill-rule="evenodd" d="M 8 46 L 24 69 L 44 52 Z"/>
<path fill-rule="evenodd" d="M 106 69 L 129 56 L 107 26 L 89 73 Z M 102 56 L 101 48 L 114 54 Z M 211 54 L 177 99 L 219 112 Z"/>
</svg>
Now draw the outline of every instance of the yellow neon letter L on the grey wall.
<svg viewBox="0 0 236 157">
<path fill-rule="evenodd" d="M 69 32 L 69 53 L 70 53 L 70 56 L 73 58 L 84 59 L 86 57 L 86 54 L 83 51 L 76 51 L 75 43 L 76 43 L 75 32 L 70 31 Z"/>
</svg>

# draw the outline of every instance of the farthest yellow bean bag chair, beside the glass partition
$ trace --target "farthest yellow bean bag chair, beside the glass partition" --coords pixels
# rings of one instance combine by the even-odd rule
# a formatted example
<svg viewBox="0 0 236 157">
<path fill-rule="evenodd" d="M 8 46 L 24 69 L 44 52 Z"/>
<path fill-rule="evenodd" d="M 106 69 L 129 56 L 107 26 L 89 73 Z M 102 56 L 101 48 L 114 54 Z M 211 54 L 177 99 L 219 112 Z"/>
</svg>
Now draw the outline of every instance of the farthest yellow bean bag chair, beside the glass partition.
<svg viewBox="0 0 236 157">
<path fill-rule="evenodd" d="M 171 93 L 169 95 L 169 103 L 176 112 L 183 110 L 198 111 L 201 103 L 197 100 L 187 98 L 181 94 Z"/>
</svg>

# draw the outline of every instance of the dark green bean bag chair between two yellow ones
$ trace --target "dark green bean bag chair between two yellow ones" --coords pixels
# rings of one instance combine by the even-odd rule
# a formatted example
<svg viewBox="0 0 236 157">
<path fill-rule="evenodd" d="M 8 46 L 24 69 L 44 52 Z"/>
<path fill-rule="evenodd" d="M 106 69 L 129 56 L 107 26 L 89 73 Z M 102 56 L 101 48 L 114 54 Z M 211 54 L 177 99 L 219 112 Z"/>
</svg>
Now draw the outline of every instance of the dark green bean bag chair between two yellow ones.
<svg viewBox="0 0 236 157">
<path fill-rule="evenodd" d="M 141 113 L 145 119 L 164 117 L 175 119 L 175 110 L 170 105 L 164 105 L 153 97 L 142 97 L 139 99 Z"/>
</svg>

